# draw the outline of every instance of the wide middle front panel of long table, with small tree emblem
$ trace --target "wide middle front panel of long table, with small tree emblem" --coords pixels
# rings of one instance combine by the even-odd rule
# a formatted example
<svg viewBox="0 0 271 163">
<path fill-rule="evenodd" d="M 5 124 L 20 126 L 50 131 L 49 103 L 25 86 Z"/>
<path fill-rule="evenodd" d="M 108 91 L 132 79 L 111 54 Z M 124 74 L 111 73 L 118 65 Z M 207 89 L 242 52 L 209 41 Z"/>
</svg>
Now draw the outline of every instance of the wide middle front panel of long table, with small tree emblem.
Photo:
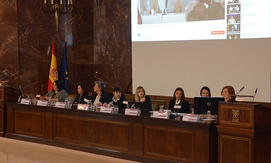
<svg viewBox="0 0 271 163">
<path fill-rule="evenodd" d="M 54 114 L 54 140 L 60 142 L 131 153 L 131 128 L 131 122 Z"/>
</svg>

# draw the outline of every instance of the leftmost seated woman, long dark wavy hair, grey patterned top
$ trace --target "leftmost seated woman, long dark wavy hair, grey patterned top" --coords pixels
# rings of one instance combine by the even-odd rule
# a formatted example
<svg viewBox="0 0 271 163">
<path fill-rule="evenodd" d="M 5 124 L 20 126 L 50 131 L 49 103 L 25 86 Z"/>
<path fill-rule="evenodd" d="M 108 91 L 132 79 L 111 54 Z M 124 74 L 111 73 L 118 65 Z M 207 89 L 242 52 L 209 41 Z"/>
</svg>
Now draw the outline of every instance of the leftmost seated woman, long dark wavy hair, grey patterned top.
<svg viewBox="0 0 271 163">
<path fill-rule="evenodd" d="M 54 81 L 53 89 L 50 90 L 44 97 L 40 96 L 40 99 L 48 100 L 49 97 L 51 97 L 52 100 L 59 102 L 64 102 L 65 98 L 68 98 L 68 94 L 65 90 L 65 87 L 60 80 Z"/>
</svg>

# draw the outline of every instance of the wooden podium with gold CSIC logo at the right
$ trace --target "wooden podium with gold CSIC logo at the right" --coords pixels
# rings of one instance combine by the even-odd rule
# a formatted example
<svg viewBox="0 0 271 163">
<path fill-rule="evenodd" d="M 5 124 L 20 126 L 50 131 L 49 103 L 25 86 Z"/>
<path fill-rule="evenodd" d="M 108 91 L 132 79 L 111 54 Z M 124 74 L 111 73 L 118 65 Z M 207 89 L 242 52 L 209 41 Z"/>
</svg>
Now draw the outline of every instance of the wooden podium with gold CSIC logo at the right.
<svg viewBox="0 0 271 163">
<path fill-rule="evenodd" d="M 218 162 L 270 162 L 270 113 L 260 104 L 219 102 Z"/>
</svg>

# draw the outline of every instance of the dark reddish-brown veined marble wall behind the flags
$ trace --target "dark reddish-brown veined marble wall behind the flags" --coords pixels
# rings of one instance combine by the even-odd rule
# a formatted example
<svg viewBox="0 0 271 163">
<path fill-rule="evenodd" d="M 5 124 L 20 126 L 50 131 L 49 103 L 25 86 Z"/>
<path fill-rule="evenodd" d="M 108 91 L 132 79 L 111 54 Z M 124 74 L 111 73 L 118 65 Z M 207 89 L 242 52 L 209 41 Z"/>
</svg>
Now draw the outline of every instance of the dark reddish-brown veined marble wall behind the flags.
<svg viewBox="0 0 271 163">
<path fill-rule="evenodd" d="M 59 14 L 58 32 L 43 2 L 0 0 L 0 80 L 15 77 L 10 86 L 46 93 L 52 39 L 60 68 L 67 37 L 70 93 L 80 83 L 93 91 L 97 80 L 106 92 L 115 85 L 124 91 L 132 80 L 131 1 L 74 0 L 71 13 Z"/>
</svg>

